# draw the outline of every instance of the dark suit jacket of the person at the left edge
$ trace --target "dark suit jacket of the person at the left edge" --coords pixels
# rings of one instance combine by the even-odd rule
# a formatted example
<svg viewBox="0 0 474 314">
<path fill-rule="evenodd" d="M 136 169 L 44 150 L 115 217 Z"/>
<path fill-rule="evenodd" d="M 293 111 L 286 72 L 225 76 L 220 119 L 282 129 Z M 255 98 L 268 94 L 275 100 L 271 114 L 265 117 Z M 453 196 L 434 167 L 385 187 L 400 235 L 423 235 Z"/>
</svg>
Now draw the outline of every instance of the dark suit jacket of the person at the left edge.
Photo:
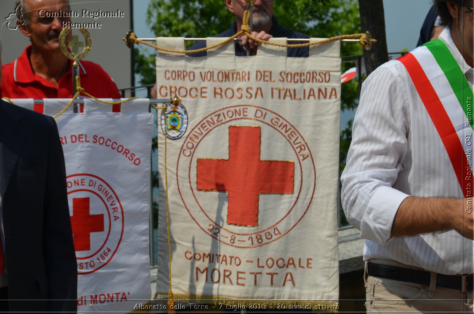
<svg viewBox="0 0 474 314">
<path fill-rule="evenodd" d="M 0 192 L 10 311 L 76 312 L 76 257 L 55 120 L 4 101 Z"/>
</svg>

